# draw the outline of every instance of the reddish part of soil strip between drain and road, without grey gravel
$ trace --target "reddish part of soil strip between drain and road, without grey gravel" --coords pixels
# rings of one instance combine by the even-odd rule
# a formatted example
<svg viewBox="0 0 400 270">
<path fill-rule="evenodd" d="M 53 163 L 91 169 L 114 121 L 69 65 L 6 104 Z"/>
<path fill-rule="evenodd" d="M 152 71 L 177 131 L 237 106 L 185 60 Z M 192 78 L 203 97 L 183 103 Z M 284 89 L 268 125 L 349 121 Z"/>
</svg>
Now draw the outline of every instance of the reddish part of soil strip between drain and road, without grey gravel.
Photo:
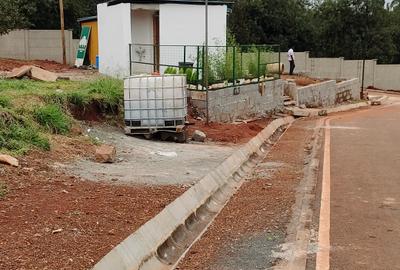
<svg viewBox="0 0 400 270">
<path fill-rule="evenodd" d="M 253 176 L 244 183 L 192 247 L 179 269 L 217 269 L 213 268 L 213 262 L 221 261 L 221 254 L 243 235 L 269 229 L 286 231 L 296 187 L 303 177 L 304 147 L 311 135 L 311 129 L 305 128 L 304 122 L 297 122 L 290 128 L 264 161 L 285 164 L 270 176 Z"/>
</svg>

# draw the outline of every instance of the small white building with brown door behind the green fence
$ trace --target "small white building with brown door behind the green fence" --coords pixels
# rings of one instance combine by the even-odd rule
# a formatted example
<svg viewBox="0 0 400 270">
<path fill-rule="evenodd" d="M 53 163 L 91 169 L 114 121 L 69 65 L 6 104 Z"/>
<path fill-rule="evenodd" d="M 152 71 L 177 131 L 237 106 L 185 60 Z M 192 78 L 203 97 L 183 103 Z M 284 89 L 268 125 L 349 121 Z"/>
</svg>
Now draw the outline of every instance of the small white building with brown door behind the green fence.
<svg viewBox="0 0 400 270">
<path fill-rule="evenodd" d="M 204 0 L 114 0 L 99 4 L 97 16 L 100 73 L 111 76 L 128 76 L 131 69 L 153 71 L 149 65 L 130 66 L 130 55 L 146 63 L 156 57 L 158 63 L 178 65 L 184 59 L 183 47 L 164 45 L 205 42 Z M 224 46 L 226 28 L 227 2 L 209 0 L 209 45 Z M 131 52 L 130 44 L 135 44 Z M 152 46 L 155 44 L 160 49 Z M 195 51 L 195 47 L 189 46 L 185 59 L 190 59 Z"/>
</svg>

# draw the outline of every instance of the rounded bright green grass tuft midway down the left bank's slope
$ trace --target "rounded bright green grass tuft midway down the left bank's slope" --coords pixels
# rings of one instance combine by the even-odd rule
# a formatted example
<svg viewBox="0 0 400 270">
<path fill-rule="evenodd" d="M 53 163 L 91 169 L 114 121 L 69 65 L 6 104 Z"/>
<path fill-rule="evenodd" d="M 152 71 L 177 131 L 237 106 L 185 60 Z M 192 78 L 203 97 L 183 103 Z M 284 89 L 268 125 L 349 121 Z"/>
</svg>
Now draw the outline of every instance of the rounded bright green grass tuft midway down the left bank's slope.
<svg viewBox="0 0 400 270">
<path fill-rule="evenodd" d="M 55 104 L 39 107 L 33 112 L 35 120 L 49 132 L 67 134 L 71 129 L 71 120 L 63 110 Z"/>
</svg>

